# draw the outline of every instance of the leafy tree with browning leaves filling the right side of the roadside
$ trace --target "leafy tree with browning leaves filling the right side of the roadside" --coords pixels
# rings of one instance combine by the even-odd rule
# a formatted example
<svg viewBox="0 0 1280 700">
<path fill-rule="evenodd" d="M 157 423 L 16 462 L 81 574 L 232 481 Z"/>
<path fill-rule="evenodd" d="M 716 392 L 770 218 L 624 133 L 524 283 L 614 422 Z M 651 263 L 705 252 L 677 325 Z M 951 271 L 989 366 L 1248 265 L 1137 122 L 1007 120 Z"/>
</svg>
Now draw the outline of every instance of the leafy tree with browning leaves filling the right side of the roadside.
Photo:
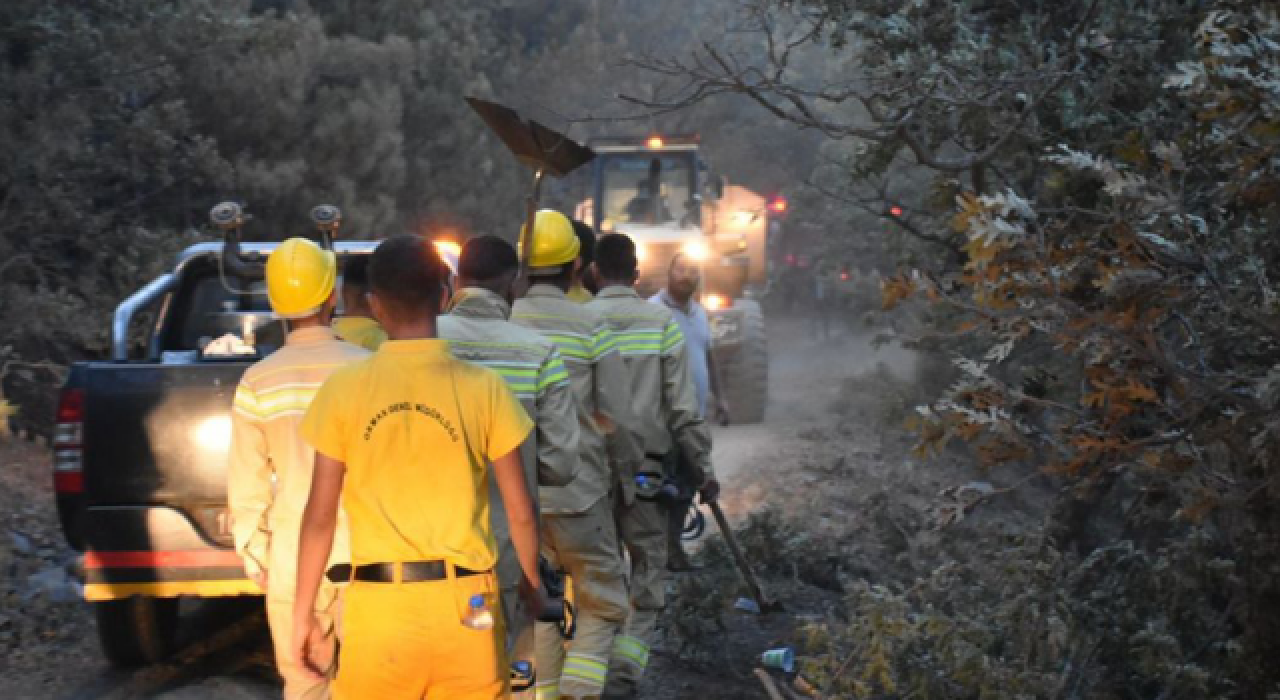
<svg viewBox="0 0 1280 700">
<path fill-rule="evenodd" d="M 860 599 L 901 624 L 859 627 L 888 637 L 855 648 L 874 682 L 854 690 L 1272 688 L 1275 9 L 769 0 L 744 22 L 754 46 L 649 59 L 682 82 L 643 102 L 745 95 L 841 145 L 846 206 L 905 202 L 890 223 L 934 252 L 884 301 L 919 298 L 963 375 L 920 408 L 922 454 L 959 443 L 1060 489 L 1000 554 L 1025 594 Z M 828 69 L 796 69 L 813 52 Z M 974 655 L 1001 639 L 1019 649 Z"/>
</svg>

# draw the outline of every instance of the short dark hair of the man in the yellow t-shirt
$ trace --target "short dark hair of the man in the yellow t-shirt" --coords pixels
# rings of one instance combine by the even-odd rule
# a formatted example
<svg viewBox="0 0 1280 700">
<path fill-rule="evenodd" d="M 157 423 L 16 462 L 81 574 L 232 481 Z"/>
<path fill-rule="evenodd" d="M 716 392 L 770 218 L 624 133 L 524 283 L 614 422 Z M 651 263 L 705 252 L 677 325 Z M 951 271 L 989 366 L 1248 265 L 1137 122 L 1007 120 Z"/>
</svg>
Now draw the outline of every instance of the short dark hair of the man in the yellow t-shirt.
<svg viewBox="0 0 1280 700">
<path fill-rule="evenodd" d="M 369 260 L 369 284 L 379 301 L 402 319 L 435 316 L 449 269 L 425 238 L 393 235 Z"/>
</svg>

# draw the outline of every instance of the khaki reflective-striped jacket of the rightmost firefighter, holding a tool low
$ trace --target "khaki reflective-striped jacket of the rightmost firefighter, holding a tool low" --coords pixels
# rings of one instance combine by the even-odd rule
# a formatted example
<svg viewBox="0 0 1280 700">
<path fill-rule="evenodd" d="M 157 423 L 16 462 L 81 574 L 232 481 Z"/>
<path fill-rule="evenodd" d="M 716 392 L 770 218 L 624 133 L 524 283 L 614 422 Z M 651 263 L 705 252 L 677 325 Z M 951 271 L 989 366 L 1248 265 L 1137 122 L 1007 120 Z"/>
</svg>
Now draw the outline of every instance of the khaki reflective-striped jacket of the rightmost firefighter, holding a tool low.
<svg viewBox="0 0 1280 700">
<path fill-rule="evenodd" d="M 671 310 L 617 285 L 600 289 L 586 306 L 608 321 L 631 372 L 631 413 L 645 456 L 660 462 L 675 436 L 700 480 L 710 479 L 710 433 L 698 407 L 685 335 Z"/>
</svg>

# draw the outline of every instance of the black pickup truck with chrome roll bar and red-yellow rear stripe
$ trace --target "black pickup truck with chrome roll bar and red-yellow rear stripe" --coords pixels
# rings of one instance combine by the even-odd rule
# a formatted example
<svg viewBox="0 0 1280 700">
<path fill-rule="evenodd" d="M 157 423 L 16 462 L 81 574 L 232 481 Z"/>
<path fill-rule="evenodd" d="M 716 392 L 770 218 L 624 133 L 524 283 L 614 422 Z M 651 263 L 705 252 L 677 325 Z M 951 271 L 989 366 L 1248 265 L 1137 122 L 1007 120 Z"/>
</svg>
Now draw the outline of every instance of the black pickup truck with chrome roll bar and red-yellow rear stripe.
<svg viewBox="0 0 1280 700">
<path fill-rule="evenodd" d="M 340 265 L 374 246 L 333 250 Z M 77 363 L 63 388 L 58 511 L 68 541 L 84 552 L 84 599 L 113 663 L 165 656 L 180 596 L 260 594 L 232 544 L 225 462 L 241 374 L 284 342 L 261 279 L 274 247 L 187 248 L 173 271 L 116 308 L 111 358 Z M 228 342 L 233 353 L 210 352 Z"/>
</svg>

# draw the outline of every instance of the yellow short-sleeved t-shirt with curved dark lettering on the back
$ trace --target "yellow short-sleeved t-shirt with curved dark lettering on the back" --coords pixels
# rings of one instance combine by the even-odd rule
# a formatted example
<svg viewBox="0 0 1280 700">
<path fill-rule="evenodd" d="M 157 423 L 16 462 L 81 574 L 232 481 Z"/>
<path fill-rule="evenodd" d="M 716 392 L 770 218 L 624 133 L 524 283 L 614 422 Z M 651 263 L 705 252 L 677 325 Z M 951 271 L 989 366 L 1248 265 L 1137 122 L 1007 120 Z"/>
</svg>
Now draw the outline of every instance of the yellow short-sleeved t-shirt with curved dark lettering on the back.
<svg viewBox="0 0 1280 700">
<path fill-rule="evenodd" d="M 300 430 L 347 466 L 353 564 L 445 559 L 485 571 L 495 561 L 489 462 L 531 429 L 497 372 L 430 339 L 388 340 L 335 371 Z"/>
</svg>

